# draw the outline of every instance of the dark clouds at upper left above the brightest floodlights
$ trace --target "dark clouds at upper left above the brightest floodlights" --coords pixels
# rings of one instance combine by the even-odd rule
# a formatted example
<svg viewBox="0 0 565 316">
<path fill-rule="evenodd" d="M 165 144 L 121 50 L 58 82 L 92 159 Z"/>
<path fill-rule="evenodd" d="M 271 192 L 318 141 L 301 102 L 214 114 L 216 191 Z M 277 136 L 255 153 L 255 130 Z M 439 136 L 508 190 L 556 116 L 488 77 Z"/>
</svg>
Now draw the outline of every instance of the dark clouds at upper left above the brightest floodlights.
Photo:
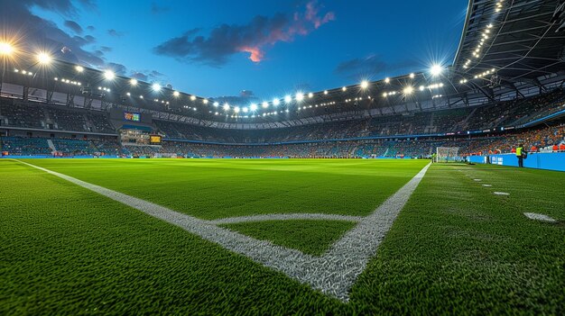
<svg viewBox="0 0 565 316">
<path fill-rule="evenodd" d="M 82 6 L 92 6 L 92 3 L 86 0 L 79 3 Z M 31 8 L 36 6 L 63 16 L 76 15 L 79 10 L 71 0 L 0 0 L 0 21 L 3 24 L 2 36 L 5 41 L 16 41 L 15 44 L 22 50 L 42 47 L 51 50 L 56 58 L 70 62 L 88 66 L 104 65 L 103 56 L 85 48 L 96 41 L 94 37 L 69 35 L 55 23 L 32 14 Z"/>
</svg>

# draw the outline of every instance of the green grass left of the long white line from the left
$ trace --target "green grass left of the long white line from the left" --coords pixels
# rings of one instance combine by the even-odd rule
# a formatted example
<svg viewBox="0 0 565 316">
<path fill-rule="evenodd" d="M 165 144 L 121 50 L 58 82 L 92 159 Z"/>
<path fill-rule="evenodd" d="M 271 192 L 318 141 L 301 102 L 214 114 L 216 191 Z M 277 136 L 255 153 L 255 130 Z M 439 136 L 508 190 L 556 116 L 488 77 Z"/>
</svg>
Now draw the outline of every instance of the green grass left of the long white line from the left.
<svg viewBox="0 0 565 316">
<path fill-rule="evenodd" d="M 272 314 L 347 306 L 78 185 L 0 160 L 0 314 Z"/>
</svg>

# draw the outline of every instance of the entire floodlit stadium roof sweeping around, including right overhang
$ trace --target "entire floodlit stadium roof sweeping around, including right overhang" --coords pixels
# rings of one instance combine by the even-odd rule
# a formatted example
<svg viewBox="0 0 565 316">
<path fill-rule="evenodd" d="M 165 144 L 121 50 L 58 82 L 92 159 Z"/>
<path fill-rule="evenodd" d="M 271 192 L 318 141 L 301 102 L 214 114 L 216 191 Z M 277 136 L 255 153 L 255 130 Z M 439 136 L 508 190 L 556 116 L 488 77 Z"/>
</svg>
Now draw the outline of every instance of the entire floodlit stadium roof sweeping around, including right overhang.
<svg viewBox="0 0 565 316">
<path fill-rule="evenodd" d="M 17 50 L 5 57 L 3 81 L 31 88 L 11 92 L 5 85 L 2 94 L 35 95 L 51 102 L 53 93 L 59 93 L 67 95 L 71 106 L 88 108 L 96 100 L 101 109 L 134 106 L 227 128 L 233 124 L 289 126 L 486 104 L 563 85 L 565 31 L 560 25 L 565 14 L 559 5 L 559 0 L 470 0 L 456 59 L 453 66 L 443 66 L 441 73 L 428 69 L 319 92 L 297 91 L 260 104 L 222 104 Z"/>
</svg>

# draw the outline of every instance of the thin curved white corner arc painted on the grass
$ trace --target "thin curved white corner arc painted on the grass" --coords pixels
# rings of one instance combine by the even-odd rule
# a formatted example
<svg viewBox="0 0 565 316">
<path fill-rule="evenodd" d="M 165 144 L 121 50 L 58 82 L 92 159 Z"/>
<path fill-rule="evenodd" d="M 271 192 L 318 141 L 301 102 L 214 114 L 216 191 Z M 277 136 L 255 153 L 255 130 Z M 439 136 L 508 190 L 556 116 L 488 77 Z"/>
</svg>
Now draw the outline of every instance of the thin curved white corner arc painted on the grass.
<svg viewBox="0 0 565 316">
<path fill-rule="evenodd" d="M 362 216 L 321 214 L 321 213 L 293 213 L 293 214 L 263 214 L 253 216 L 229 217 L 208 221 L 210 224 L 236 224 L 254 221 L 288 221 L 288 220 L 326 220 L 326 221 L 361 221 Z"/>
</svg>

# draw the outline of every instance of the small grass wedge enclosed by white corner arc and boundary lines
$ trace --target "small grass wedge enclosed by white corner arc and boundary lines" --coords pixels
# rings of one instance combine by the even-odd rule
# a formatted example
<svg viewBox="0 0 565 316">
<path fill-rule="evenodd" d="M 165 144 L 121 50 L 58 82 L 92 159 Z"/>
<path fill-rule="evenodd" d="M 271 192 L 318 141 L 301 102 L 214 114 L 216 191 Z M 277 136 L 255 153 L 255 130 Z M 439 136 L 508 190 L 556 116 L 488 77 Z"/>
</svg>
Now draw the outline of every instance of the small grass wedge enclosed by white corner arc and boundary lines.
<svg viewBox="0 0 565 316">
<path fill-rule="evenodd" d="M 287 220 L 240 222 L 220 226 L 255 239 L 269 240 L 275 245 L 320 256 L 355 225 L 353 221 Z"/>
</svg>

